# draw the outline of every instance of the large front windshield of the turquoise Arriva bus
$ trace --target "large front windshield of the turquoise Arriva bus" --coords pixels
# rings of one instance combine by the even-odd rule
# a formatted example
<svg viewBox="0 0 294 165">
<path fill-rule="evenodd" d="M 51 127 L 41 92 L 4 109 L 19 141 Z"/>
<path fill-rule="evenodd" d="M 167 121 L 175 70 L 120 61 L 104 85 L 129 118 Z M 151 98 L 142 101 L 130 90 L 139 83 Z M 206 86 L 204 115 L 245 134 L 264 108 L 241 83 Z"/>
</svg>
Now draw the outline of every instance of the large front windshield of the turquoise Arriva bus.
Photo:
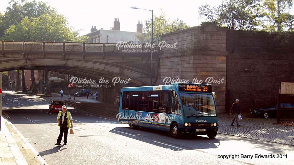
<svg viewBox="0 0 294 165">
<path fill-rule="evenodd" d="M 180 93 L 184 116 L 216 116 L 216 106 L 211 94 Z"/>
</svg>

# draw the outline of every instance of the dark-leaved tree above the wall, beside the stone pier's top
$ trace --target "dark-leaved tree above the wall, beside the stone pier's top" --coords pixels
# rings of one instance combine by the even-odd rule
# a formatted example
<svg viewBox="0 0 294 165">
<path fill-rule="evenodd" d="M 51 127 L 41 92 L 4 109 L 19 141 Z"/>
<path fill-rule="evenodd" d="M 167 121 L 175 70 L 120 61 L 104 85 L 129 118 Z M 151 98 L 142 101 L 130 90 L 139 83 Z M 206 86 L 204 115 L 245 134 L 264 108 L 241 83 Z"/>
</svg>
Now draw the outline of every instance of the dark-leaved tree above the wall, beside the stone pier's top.
<svg viewBox="0 0 294 165">
<path fill-rule="evenodd" d="M 219 6 L 202 4 L 199 16 L 215 22 L 219 27 L 233 30 L 257 30 L 262 25 L 260 0 L 223 0 Z"/>
</svg>

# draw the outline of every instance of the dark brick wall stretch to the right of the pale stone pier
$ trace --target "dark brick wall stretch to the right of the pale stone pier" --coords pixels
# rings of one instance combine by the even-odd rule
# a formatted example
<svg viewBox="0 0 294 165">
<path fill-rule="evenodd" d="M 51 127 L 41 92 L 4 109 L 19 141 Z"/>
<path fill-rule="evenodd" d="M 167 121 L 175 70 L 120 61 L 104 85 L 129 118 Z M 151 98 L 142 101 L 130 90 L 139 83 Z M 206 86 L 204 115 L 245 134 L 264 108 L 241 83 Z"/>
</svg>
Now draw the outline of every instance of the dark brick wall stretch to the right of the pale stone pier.
<svg viewBox="0 0 294 165">
<path fill-rule="evenodd" d="M 243 112 L 274 106 L 280 82 L 294 82 L 294 38 L 292 42 L 280 44 L 286 37 L 277 40 L 277 35 L 227 32 L 227 111 L 236 98 L 242 103 Z"/>
</svg>

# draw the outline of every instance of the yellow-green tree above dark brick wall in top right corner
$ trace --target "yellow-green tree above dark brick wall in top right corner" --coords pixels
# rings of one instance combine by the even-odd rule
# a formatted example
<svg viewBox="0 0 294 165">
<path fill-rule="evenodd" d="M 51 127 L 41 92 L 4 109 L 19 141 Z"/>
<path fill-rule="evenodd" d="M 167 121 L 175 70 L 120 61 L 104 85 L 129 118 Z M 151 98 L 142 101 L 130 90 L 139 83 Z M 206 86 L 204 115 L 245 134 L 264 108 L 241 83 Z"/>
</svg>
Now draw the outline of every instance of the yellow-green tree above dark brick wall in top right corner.
<svg viewBox="0 0 294 165">
<path fill-rule="evenodd" d="M 292 31 L 294 19 L 294 15 L 290 15 L 292 6 L 293 0 L 263 0 L 263 13 L 267 18 L 263 25 L 264 30 Z"/>
</svg>

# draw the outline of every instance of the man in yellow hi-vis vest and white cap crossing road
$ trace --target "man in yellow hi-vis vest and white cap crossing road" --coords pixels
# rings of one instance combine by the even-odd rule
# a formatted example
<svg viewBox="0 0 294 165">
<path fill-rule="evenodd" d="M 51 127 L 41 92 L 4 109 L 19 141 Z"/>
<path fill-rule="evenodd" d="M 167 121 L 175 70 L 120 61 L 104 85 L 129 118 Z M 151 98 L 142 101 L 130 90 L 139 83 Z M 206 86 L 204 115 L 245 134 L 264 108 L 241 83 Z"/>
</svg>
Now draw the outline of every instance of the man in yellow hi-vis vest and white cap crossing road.
<svg viewBox="0 0 294 165">
<path fill-rule="evenodd" d="M 57 115 L 57 122 L 58 122 L 58 126 L 59 128 L 59 136 L 57 139 L 57 143 L 55 145 L 60 146 L 61 145 L 61 140 L 62 140 L 62 136 L 64 133 L 64 145 L 67 144 L 67 133 L 69 132 L 69 127 L 73 127 L 73 118 L 71 117 L 71 112 L 67 112 L 66 111 L 66 106 L 62 106 L 62 111 L 60 111 Z"/>
</svg>

